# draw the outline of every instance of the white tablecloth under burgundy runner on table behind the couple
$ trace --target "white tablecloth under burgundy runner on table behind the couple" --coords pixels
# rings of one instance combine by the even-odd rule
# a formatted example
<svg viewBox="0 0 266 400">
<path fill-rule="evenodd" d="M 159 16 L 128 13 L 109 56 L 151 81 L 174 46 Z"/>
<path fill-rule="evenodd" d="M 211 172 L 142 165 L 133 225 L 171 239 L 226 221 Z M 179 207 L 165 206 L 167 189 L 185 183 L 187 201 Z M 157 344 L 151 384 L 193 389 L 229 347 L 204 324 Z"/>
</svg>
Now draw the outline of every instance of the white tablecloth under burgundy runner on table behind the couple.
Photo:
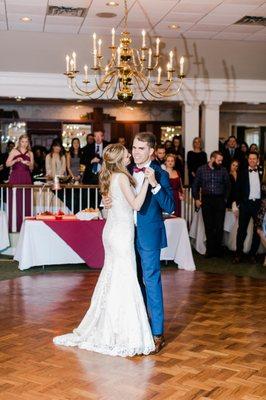
<svg viewBox="0 0 266 400">
<path fill-rule="evenodd" d="M 161 260 L 174 260 L 181 269 L 193 271 L 188 231 L 182 218 L 165 221 L 168 247 L 161 252 Z M 20 232 L 14 259 L 19 269 L 37 265 L 80 264 L 84 261 L 52 229 L 42 221 L 25 220 Z"/>
</svg>

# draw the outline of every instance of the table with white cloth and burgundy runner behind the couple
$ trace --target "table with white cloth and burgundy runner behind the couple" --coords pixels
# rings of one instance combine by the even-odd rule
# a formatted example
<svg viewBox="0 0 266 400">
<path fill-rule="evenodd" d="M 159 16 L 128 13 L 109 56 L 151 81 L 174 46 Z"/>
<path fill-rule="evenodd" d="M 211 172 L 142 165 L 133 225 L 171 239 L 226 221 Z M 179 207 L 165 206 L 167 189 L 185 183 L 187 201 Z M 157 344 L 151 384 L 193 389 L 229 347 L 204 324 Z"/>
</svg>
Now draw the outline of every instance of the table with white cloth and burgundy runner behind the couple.
<svg viewBox="0 0 266 400">
<path fill-rule="evenodd" d="M 14 259 L 19 269 L 34 266 L 86 263 L 101 268 L 104 250 L 101 241 L 104 220 L 23 222 Z M 182 218 L 165 220 L 168 247 L 162 249 L 161 260 L 173 260 L 180 269 L 193 271 L 186 222 Z"/>
</svg>

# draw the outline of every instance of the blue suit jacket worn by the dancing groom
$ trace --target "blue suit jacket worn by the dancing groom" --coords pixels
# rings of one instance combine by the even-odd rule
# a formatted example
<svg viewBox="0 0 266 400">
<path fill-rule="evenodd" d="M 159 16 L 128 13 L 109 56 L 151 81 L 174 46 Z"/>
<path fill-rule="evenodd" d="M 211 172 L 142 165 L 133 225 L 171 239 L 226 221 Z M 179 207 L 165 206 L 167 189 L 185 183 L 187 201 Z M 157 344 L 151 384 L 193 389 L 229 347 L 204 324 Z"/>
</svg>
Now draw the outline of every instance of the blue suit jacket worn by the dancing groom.
<svg viewBox="0 0 266 400">
<path fill-rule="evenodd" d="M 129 167 L 132 175 L 133 167 L 133 164 Z M 137 241 L 144 250 L 157 250 L 167 246 L 162 212 L 172 214 L 175 211 L 175 202 L 168 173 L 156 161 L 152 161 L 150 167 L 154 169 L 161 189 L 153 194 L 152 187 L 148 187 L 145 201 L 137 213 Z"/>
</svg>

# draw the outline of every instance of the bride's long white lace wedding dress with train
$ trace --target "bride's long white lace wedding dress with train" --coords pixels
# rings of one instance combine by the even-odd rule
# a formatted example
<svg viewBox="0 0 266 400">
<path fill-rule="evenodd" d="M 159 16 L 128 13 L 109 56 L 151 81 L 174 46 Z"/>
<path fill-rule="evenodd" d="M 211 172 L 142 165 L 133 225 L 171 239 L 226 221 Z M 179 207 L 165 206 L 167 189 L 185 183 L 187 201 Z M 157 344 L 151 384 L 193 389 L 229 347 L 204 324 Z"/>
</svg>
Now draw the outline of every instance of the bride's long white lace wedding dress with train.
<svg viewBox="0 0 266 400">
<path fill-rule="evenodd" d="M 73 333 L 57 336 L 55 344 L 78 346 L 113 356 L 149 354 L 154 341 L 137 279 L 133 210 L 112 177 L 112 207 L 103 231 L 104 266 L 91 305 Z"/>
</svg>

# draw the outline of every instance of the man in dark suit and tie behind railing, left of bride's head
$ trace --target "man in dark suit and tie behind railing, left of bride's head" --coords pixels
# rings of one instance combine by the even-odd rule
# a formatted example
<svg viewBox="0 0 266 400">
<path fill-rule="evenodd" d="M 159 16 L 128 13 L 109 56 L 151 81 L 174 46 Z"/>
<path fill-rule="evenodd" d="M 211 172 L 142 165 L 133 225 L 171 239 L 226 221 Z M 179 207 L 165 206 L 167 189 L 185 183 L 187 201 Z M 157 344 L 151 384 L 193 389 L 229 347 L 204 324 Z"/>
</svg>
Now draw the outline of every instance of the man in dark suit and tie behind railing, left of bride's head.
<svg viewBox="0 0 266 400">
<path fill-rule="evenodd" d="M 104 133 L 94 132 L 95 142 L 87 144 L 83 150 L 81 164 L 85 166 L 82 183 L 97 185 L 98 175 L 101 170 L 103 149 L 108 145 L 104 139 Z"/>
</svg>

